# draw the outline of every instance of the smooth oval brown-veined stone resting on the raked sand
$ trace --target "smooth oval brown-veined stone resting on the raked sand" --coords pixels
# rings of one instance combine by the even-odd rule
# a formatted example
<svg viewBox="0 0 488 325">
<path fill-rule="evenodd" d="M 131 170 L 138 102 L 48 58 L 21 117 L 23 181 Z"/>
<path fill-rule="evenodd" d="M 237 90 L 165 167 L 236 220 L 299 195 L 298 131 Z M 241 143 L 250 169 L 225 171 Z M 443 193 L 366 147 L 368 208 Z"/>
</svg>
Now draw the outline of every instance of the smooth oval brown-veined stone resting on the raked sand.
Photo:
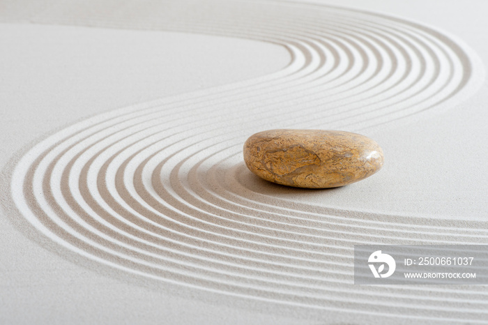
<svg viewBox="0 0 488 325">
<path fill-rule="evenodd" d="M 369 137 L 345 131 L 268 130 L 244 144 L 254 174 L 298 188 L 336 188 L 371 176 L 383 166 L 383 151 Z"/>
</svg>

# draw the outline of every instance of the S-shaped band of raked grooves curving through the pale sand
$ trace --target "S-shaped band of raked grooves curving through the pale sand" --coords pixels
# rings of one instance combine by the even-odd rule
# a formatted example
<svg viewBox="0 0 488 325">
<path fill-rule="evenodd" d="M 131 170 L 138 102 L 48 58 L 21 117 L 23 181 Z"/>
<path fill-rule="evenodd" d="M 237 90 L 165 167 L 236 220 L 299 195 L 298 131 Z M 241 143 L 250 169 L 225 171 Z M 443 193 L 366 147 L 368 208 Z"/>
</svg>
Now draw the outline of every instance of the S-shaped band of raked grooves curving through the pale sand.
<svg viewBox="0 0 488 325">
<path fill-rule="evenodd" d="M 12 178 L 12 199 L 33 227 L 122 273 L 220 294 L 365 314 L 381 304 L 402 317 L 415 310 L 488 317 L 488 294 L 478 287 L 386 294 L 352 285 L 354 244 L 488 243 L 485 223 L 434 227 L 414 216 L 299 204 L 255 191 L 259 180 L 241 162 L 243 141 L 257 130 L 378 128 L 454 105 L 482 78 L 474 54 L 427 27 L 342 8 L 145 2 L 116 11 L 59 3 L 29 19 L 251 38 L 287 47 L 291 62 L 255 80 L 101 114 L 44 139 Z M 133 7 L 151 10 L 131 17 Z M 98 9 L 107 15 L 97 17 Z M 441 299 L 445 292 L 455 298 Z"/>
</svg>

